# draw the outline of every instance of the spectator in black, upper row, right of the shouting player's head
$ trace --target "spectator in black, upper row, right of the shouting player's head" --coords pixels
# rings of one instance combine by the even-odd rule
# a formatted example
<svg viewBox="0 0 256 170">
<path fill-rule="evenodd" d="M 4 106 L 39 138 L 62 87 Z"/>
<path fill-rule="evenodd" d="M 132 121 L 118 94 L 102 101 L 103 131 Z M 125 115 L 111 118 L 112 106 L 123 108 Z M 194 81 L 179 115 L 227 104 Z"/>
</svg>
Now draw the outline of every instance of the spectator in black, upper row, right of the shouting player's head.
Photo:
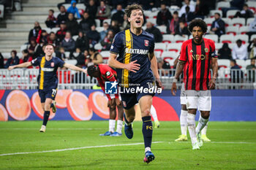
<svg viewBox="0 0 256 170">
<path fill-rule="evenodd" d="M 157 26 L 168 26 L 173 18 L 165 4 L 161 4 L 161 10 L 157 13 Z"/>
</svg>

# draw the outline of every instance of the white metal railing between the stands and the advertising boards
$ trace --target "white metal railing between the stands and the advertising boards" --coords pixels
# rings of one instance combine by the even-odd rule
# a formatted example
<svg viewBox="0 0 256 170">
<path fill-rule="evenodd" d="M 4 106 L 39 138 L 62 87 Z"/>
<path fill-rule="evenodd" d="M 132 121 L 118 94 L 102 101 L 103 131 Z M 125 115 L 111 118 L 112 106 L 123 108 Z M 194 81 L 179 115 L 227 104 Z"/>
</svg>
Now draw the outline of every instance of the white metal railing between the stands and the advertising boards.
<svg viewBox="0 0 256 170">
<path fill-rule="evenodd" d="M 159 69 L 160 78 L 165 89 L 170 89 L 175 69 Z M 217 77 L 217 89 L 256 89 L 255 70 L 246 69 L 219 69 Z M 0 69 L 0 89 L 37 89 L 38 69 Z M 87 74 L 59 69 L 59 89 L 91 89 L 97 85 L 94 77 Z M 177 82 L 180 89 L 182 76 Z"/>
</svg>

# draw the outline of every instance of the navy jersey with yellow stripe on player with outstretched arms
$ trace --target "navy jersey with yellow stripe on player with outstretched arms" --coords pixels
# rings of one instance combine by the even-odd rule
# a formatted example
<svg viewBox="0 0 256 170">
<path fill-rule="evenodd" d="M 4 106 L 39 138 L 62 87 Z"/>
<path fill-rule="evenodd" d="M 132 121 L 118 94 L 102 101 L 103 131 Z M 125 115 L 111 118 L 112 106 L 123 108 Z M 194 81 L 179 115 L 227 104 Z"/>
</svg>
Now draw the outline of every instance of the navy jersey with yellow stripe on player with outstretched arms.
<svg viewBox="0 0 256 170">
<path fill-rule="evenodd" d="M 31 61 L 33 66 L 39 66 L 38 88 L 39 90 L 58 88 L 58 67 L 63 67 L 64 61 L 53 57 L 47 61 L 45 56 L 35 58 Z"/>
</svg>

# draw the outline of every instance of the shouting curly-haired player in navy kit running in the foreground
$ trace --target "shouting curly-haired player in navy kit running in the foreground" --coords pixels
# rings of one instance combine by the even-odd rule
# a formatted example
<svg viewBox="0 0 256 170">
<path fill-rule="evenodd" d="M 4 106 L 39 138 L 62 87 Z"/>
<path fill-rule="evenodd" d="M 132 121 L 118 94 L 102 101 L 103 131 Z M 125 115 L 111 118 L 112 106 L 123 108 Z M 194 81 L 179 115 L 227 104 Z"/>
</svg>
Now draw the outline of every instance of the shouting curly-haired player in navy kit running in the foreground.
<svg viewBox="0 0 256 170">
<path fill-rule="evenodd" d="M 131 28 L 116 34 L 110 47 L 108 65 L 116 68 L 119 86 L 122 91 L 131 89 L 148 89 L 154 86 L 162 88 L 157 69 L 157 58 L 154 55 L 154 36 L 143 31 L 143 9 L 138 4 L 132 4 L 125 10 Z M 117 57 L 118 55 L 118 57 Z M 135 119 L 135 104 L 139 103 L 143 120 L 143 138 L 145 145 L 144 161 L 154 160 L 151 152 L 153 126 L 151 122 L 151 105 L 154 93 L 140 91 L 139 93 L 121 93 L 125 111 L 124 133 L 132 139 L 132 121 Z"/>
</svg>

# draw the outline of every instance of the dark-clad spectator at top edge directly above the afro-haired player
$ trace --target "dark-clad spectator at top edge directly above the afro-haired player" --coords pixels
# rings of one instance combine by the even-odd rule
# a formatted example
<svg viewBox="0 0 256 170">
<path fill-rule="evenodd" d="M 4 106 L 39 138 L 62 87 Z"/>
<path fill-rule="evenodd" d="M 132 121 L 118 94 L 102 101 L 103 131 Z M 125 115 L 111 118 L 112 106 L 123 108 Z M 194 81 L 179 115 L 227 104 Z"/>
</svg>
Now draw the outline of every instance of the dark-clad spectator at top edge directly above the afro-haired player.
<svg viewBox="0 0 256 170">
<path fill-rule="evenodd" d="M 206 1 L 197 0 L 195 5 L 195 18 L 202 18 L 204 19 L 206 15 L 209 14 L 209 7 L 206 4 Z"/>
</svg>

